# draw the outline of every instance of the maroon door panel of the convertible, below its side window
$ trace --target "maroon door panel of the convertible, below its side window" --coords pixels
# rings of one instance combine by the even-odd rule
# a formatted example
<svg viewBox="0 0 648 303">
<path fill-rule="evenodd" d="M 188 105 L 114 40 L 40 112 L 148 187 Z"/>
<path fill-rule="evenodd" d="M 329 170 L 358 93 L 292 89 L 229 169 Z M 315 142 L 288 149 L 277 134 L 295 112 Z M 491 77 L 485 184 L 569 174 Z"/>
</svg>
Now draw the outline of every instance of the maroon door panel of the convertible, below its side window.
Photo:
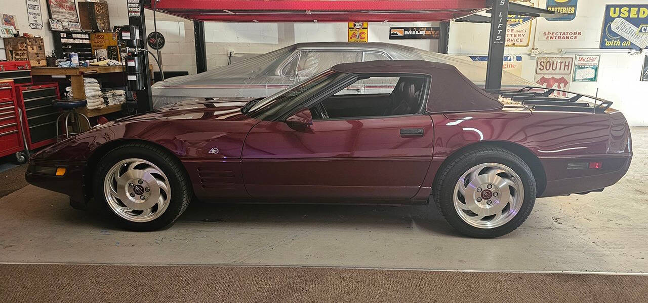
<svg viewBox="0 0 648 303">
<path fill-rule="evenodd" d="M 421 129 L 420 137 L 400 130 Z M 432 160 L 428 115 L 314 121 L 312 132 L 263 121 L 242 151 L 252 197 L 410 199 Z"/>
</svg>

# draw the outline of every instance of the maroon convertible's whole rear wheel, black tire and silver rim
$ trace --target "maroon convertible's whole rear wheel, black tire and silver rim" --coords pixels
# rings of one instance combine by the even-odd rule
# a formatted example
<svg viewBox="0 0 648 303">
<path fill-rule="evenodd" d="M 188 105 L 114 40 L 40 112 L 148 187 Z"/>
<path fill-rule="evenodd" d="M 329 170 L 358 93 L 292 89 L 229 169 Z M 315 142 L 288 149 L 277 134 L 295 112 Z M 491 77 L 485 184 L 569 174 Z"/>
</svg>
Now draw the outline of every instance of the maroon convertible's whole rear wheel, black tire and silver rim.
<svg viewBox="0 0 648 303">
<path fill-rule="evenodd" d="M 477 147 L 439 170 L 433 197 L 446 220 L 472 237 L 499 237 L 531 213 L 536 184 L 522 158 L 500 147 Z"/>
</svg>

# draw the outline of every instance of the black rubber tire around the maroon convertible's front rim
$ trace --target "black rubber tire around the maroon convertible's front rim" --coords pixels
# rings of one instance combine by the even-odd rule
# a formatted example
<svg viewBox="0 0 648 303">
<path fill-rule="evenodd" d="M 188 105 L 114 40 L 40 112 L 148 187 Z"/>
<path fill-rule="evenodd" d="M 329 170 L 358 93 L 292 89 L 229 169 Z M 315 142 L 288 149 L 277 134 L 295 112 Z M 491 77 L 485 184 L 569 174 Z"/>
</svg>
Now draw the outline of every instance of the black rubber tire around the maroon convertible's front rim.
<svg viewBox="0 0 648 303">
<path fill-rule="evenodd" d="M 128 221 L 113 212 L 104 197 L 103 184 L 108 171 L 117 162 L 128 158 L 147 160 L 157 165 L 167 175 L 171 191 L 170 202 L 165 212 L 152 221 Z M 126 143 L 108 152 L 99 161 L 93 181 L 95 200 L 100 202 L 99 204 L 102 205 L 106 213 L 122 228 L 137 232 L 160 230 L 171 226 L 187 209 L 193 195 L 189 176 L 187 176 L 187 172 L 179 160 L 165 149 L 148 143 Z"/>
</svg>

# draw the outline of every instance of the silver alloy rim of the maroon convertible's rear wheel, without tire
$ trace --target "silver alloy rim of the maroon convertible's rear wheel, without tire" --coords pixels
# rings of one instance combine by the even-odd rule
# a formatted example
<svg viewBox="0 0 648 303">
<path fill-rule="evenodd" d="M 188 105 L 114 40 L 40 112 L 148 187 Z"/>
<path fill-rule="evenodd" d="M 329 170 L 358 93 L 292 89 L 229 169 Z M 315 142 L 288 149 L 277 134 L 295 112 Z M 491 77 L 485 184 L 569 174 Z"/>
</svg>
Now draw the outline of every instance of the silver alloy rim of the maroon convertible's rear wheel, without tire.
<svg viewBox="0 0 648 303">
<path fill-rule="evenodd" d="M 477 228 L 496 228 L 511 221 L 524 201 L 522 179 L 503 164 L 484 163 L 464 173 L 454 188 L 459 217 Z"/>
</svg>

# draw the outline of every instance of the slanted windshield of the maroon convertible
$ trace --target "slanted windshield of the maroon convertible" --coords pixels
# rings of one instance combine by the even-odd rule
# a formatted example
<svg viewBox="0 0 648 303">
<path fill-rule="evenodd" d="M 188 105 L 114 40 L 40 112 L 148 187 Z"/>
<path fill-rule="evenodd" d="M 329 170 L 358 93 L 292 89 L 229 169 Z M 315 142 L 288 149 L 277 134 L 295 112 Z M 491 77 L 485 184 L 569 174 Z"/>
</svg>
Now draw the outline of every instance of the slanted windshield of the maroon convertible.
<svg viewBox="0 0 648 303">
<path fill-rule="evenodd" d="M 298 82 L 283 91 L 261 100 L 252 100 L 243 108 L 243 114 L 256 119 L 268 119 L 284 110 L 289 110 L 307 101 L 329 84 L 337 82 L 349 74 L 327 70 L 319 75 Z"/>
</svg>

